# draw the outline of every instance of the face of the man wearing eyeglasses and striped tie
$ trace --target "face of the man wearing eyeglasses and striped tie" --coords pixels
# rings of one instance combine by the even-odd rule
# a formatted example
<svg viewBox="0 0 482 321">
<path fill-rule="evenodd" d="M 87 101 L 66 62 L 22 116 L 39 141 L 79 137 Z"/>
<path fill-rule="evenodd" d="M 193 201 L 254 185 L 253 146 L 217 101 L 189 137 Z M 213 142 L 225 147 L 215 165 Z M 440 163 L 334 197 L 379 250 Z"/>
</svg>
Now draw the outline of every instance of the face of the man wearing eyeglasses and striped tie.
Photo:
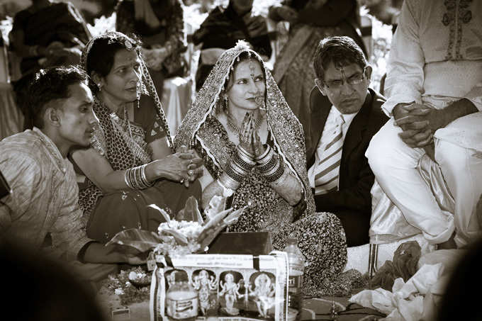
<svg viewBox="0 0 482 321">
<path fill-rule="evenodd" d="M 357 113 L 365 102 L 370 76 L 370 66 L 366 66 L 364 70 L 353 63 L 338 69 L 331 62 L 326 69 L 324 79 L 321 79 L 323 81 L 317 79 L 316 84 L 340 113 Z M 337 88 L 338 86 L 340 87 Z"/>
</svg>

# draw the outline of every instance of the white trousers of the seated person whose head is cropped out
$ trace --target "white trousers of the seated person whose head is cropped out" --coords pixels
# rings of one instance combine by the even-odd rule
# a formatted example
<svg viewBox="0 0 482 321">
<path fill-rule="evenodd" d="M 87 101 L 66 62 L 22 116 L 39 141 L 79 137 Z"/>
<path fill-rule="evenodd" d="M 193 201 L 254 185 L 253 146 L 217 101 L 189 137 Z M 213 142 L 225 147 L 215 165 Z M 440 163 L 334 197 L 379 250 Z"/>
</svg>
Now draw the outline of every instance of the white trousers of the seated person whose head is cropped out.
<svg viewBox="0 0 482 321">
<path fill-rule="evenodd" d="M 473 150 L 435 140 L 435 160 L 455 201 L 452 215 L 439 208 L 430 186 L 417 171 L 425 151 L 405 145 L 398 137 L 402 130 L 393 121 L 381 128 L 366 151 L 376 180 L 408 223 L 422 230 L 430 244 L 449 240 L 454 230 L 457 246 L 468 244 L 481 230 L 476 203 L 482 193 L 482 159 L 473 157 Z"/>
</svg>

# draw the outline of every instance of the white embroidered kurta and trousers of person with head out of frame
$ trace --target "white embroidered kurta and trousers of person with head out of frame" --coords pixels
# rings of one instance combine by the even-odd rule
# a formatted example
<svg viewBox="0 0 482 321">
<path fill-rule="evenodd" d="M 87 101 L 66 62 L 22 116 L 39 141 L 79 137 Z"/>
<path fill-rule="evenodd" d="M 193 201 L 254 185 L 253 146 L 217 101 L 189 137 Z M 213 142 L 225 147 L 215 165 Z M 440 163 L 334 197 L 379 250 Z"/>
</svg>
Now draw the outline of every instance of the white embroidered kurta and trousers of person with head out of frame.
<svg viewBox="0 0 482 321">
<path fill-rule="evenodd" d="M 398 103 L 445 108 L 461 98 L 482 111 L 482 1 L 405 0 L 392 41 L 386 94 L 382 108 L 389 116 Z M 456 229 L 460 247 L 480 232 L 475 212 L 482 193 L 480 116 L 459 118 L 435 133 L 435 159 L 454 196 L 454 213 L 440 208 L 417 170 L 424 150 L 405 145 L 393 119 L 367 150 L 383 191 L 431 244 L 447 241 Z M 454 140 L 469 124 L 470 135 Z"/>
</svg>

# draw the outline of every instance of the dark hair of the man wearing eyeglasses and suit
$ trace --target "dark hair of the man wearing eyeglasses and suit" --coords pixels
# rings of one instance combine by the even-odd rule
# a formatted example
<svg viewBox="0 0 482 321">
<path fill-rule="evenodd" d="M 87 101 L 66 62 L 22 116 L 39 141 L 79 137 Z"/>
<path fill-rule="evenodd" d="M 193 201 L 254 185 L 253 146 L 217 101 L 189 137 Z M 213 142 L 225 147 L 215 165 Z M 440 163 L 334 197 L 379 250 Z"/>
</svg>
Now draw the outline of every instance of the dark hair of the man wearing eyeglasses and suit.
<svg viewBox="0 0 482 321">
<path fill-rule="evenodd" d="M 316 47 L 315 57 L 313 58 L 313 67 L 318 79 L 323 80 L 325 71 L 332 62 L 336 68 L 341 68 L 349 64 L 358 64 L 361 69 L 367 65 L 365 55 L 361 47 L 354 42 L 352 38 L 327 37 L 320 40 Z"/>
</svg>

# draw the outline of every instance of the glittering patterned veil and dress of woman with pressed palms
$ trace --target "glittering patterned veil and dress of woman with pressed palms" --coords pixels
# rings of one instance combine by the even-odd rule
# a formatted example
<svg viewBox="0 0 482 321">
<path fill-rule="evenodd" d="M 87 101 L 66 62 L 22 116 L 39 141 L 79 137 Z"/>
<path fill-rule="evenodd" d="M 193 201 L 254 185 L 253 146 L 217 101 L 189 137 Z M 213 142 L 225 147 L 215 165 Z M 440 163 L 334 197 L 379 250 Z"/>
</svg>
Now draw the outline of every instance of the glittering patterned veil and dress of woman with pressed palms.
<svg viewBox="0 0 482 321">
<path fill-rule="evenodd" d="M 327 287 L 322 280 L 337 276 L 347 260 L 344 231 L 340 221 L 330 213 L 315 213 L 313 193 L 306 174 L 306 159 L 303 131 L 289 109 L 261 57 L 238 44 L 227 50 L 216 62 L 208 79 L 199 91 L 196 101 L 189 109 L 176 134 L 175 147 L 189 145 L 203 157 L 204 164 L 213 179 L 228 167 L 235 152 L 235 145 L 228 140 L 223 125 L 215 118 L 220 111 L 221 89 L 237 57 L 250 52 L 264 68 L 266 75 L 266 109 L 270 143 L 291 169 L 293 176 L 301 182 L 305 191 L 306 210 L 303 218 L 293 223 L 295 210 L 281 198 L 259 173 L 252 169 L 232 196 L 232 208 L 247 206 L 242 217 L 230 226 L 230 231 L 269 231 L 275 249 L 282 249 L 291 233 L 298 235 L 299 246 L 308 261 L 307 283 L 314 283 L 319 291 Z M 330 283 L 327 281 L 327 283 Z"/>
</svg>

